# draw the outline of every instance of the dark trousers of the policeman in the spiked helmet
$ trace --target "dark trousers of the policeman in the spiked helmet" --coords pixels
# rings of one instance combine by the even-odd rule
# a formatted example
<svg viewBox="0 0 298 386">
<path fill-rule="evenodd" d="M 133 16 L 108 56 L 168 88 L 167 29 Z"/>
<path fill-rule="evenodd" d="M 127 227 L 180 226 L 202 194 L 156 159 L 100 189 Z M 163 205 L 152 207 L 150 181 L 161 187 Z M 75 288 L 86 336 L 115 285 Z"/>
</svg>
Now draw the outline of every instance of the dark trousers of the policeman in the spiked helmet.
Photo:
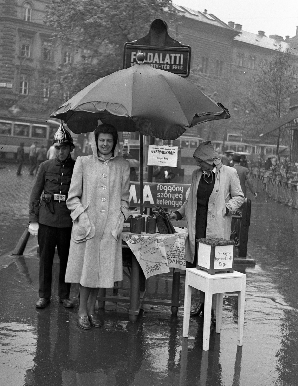
<svg viewBox="0 0 298 386">
<path fill-rule="evenodd" d="M 50 298 L 52 286 L 52 267 L 55 247 L 60 259 L 58 296 L 68 299 L 70 283 L 65 283 L 64 277 L 67 266 L 69 244 L 72 228 L 55 228 L 39 224 L 37 235 L 39 245 L 39 297 Z"/>
</svg>

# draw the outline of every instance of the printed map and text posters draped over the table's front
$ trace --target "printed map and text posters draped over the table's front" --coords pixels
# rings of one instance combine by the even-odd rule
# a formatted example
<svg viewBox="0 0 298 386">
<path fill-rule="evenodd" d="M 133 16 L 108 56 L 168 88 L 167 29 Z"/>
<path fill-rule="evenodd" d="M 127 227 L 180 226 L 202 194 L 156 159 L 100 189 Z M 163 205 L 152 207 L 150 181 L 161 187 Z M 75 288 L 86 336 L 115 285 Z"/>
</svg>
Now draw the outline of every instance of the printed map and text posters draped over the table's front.
<svg viewBox="0 0 298 386">
<path fill-rule="evenodd" d="M 177 233 L 167 235 L 122 232 L 122 240 L 136 256 L 146 279 L 167 273 L 171 267 L 185 270 L 185 239 L 188 232 L 180 228 L 175 230 Z"/>
</svg>

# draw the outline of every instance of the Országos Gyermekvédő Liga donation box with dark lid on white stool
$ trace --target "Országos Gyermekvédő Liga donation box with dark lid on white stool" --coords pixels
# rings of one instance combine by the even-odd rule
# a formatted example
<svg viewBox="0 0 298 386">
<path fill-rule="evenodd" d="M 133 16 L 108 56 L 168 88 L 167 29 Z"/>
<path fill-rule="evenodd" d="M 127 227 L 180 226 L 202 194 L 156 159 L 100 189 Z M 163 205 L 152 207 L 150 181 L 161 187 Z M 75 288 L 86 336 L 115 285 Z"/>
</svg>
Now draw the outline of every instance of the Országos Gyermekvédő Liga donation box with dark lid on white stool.
<svg viewBox="0 0 298 386">
<path fill-rule="evenodd" d="M 216 272 L 234 272 L 234 255 L 236 243 L 220 237 L 196 239 L 198 244 L 197 269 Z"/>
</svg>

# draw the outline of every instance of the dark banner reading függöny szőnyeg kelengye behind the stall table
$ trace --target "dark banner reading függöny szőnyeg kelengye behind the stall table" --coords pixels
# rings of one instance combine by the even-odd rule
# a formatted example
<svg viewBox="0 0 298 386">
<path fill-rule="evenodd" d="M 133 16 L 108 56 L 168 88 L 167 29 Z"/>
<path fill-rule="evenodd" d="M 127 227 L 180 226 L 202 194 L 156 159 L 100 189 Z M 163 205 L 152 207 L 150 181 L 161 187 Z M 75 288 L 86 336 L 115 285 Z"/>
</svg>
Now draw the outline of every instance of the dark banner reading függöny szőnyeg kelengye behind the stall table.
<svg viewBox="0 0 298 386">
<path fill-rule="evenodd" d="M 159 205 L 163 208 L 179 209 L 189 196 L 189 184 L 163 184 L 158 182 L 144 182 L 144 208 Z M 140 183 L 129 183 L 129 205 L 140 206 Z"/>
</svg>

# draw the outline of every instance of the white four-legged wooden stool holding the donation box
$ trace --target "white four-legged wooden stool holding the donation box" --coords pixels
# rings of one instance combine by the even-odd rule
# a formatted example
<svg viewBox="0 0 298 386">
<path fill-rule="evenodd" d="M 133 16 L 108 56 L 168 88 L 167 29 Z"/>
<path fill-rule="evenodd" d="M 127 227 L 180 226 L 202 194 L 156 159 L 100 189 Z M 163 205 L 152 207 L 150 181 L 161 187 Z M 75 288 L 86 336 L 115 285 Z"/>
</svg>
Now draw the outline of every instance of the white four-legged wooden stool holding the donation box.
<svg viewBox="0 0 298 386">
<path fill-rule="evenodd" d="M 187 268 L 185 276 L 183 337 L 188 337 L 189 313 L 191 308 L 191 288 L 197 288 L 205 293 L 204 305 L 204 330 L 203 350 L 209 350 L 210 319 L 212 295 L 216 293 L 216 328 L 218 334 L 221 330 L 221 316 L 223 313 L 224 292 L 238 292 L 238 346 L 242 346 L 244 301 L 245 301 L 246 275 L 234 271 L 233 273 L 216 273 L 199 271 L 196 268 Z"/>
</svg>

